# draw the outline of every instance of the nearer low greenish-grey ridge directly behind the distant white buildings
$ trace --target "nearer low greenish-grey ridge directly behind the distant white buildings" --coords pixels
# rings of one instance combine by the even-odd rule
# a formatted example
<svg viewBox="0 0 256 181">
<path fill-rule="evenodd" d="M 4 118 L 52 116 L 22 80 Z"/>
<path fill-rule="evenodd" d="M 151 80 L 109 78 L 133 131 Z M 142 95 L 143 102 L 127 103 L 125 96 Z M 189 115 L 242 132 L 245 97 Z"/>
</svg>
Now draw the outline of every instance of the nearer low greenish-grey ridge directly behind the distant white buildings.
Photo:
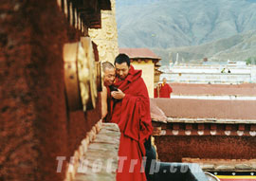
<svg viewBox="0 0 256 181">
<path fill-rule="evenodd" d="M 256 30 L 240 33 L 226 39 L 194 46 L 174 48 L 153 48 L 156 54 L 161 55 L 163 62 L 202 62 L 208 58 L 212 62 L 245 61 L 249 57 L 256 57 Z M 178 56 L 177 56 L 178 53 Z"/>
</svg>

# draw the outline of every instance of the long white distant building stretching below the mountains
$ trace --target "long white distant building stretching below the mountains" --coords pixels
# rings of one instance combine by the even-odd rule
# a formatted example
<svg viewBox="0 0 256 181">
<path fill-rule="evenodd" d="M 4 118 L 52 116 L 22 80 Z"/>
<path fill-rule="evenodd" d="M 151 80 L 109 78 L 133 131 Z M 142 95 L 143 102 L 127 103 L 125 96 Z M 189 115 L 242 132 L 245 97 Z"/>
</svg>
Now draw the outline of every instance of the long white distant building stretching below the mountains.
<svg viewBox="0 0 256 181">
<path fill-rule="evenodd" d="M 190 83 L 242 83 L 256 82 L 256 66 L 243 63 L 227 64 L 174 64 L 161 67 L 169 82 Z"/>
</svg>

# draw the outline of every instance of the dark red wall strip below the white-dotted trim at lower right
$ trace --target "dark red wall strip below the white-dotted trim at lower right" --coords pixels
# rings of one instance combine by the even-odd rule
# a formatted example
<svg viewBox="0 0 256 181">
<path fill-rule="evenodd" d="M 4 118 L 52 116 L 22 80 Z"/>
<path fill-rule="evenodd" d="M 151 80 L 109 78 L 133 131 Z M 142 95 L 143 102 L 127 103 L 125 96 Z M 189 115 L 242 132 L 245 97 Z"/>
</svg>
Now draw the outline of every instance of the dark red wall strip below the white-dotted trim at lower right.
<svg viewBox="0 0 256 181">
<path fill-rule="evenodd" d="M 161 161 L 181 162 L 182 157 L 255 159 L 252 136 L 155 136 Z"/>
</svg>

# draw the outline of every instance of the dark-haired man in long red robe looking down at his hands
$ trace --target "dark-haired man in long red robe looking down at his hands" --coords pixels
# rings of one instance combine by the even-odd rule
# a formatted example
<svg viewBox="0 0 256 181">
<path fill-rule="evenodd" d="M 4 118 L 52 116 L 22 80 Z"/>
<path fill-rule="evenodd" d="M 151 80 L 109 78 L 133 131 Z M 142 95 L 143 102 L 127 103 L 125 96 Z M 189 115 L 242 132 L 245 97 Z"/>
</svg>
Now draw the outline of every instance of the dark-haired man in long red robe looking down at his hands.
<svg viewBox="0 0 256 181">
<path fill-rule="evenodd" d="M 112 91 L 111 122 L 119 125 L 118 181 L 145 181 L 141 171 L 142 156 L 145 155 L 144 141 L 151 135 L 153 127 L 150 117 L 150 101 L 147 87 L 125 54 L 115 60 L 118 91 Z M 142 166 L 143 168 L 143 166 Z"/>
</svg>

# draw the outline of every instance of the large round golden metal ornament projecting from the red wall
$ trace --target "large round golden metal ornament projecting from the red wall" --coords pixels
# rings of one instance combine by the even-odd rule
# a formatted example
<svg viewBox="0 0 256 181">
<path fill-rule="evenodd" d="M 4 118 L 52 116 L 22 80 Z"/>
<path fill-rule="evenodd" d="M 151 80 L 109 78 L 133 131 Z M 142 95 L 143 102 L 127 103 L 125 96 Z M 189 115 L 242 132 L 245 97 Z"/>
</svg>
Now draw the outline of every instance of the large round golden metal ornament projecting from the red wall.
<svg viewBox="0 0 256 181">
<path fill-rule="evenodd" d="M 89 37 L 64 45 L 64 83 L 70 111 L 96 107 L 98 90 L 101 90 L 101 66 L 95 62 Z"/>
</svg>

